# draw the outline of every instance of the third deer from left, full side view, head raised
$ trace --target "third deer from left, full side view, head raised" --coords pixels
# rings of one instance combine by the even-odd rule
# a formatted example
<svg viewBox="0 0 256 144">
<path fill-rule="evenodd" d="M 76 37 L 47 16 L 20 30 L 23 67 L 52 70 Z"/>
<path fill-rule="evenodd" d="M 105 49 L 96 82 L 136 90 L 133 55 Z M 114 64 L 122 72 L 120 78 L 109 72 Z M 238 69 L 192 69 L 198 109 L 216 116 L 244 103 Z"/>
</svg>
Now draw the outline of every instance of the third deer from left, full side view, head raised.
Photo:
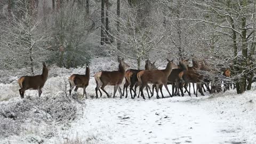
<svg viewBox="0 0 256 144">
<path fill-rule="evenodd" d="M 124 58 L 121 60 L 118 57 L 118 70 L 115 71 L 99 71 L 94 75 L 95 81 L 97 86 L 95 87 L 96 92 L 96 98 L 98 98 L 98 90 L 101 89 L 103 92 L 107 94 L 107 97 L 110 98 L 109 94 L 105 91 L 105 86 L 107 85 L 114 85 L 114 95 L 113 98 L 115 98 L 116 91 L 118 89 L 120 98 L 122 99 L 122 92 L 120 89 L 120 85 L 123 82 L 124 75 L 125 75 L 125 69 L 130 67 L 127 65 L 127 63 L 124 62 Z M 99 90 L 100 91 L 100 90 Z M 102 93 L 100 91 L 100 97 Z"/>
</svg>

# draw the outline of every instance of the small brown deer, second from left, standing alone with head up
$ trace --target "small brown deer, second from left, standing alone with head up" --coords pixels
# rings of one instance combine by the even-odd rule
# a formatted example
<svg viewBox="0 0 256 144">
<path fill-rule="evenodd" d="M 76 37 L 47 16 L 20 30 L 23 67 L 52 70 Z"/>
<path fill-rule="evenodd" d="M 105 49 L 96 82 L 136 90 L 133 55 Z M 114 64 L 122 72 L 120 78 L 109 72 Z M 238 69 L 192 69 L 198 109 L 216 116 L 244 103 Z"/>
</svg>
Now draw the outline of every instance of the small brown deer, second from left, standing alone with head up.
<svg viewBox="0 0 256 144">
<path fill-rule="evenodd" d="M 69 95 L 71 95 L 72 90 L 75 88 L 75 92 L 77 93 L 77 89 L 79 87 L 83 88 L 83 98 L 85 94 L 85 98 L 87 99 L 87 94 L 86 94 L 86 87 L 89 85 L 89 80 L 90 80 L 90 68 L 89 65 L 86 63 L 86 70 L 85 70 L 85 75 L 78 75 L 78 74 L 73 74 L 69 78 Z"/>
</svg>

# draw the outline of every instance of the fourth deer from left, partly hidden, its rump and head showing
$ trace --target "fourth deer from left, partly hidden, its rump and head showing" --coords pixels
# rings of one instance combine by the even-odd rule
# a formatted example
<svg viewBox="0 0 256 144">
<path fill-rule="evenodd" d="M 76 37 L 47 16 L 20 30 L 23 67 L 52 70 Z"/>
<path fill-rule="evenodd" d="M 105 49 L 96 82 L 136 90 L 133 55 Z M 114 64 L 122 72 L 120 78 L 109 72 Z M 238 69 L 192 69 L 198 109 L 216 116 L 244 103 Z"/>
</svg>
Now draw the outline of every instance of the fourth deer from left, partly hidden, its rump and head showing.
<svg viewBox="0 0 256 144">
<path fill-rule="evenodd" d="M 156 61 L 155 61 L 156 62 Z M 150 60 L 146 60 L 145 61 L 145 70 L 156 70 L 156 66 L 155 66 L 155 62 L 151 63 Z M 138 83 L 138 78 L 137 78 L 137 74 L 140 72 L 141 70 L 137 70 L 137 69 L 129 69 L 125 72 L 125 84 L 124 84 L 124 89 L 123 89 L 123 94 L 124 94 L 124 90 L 126 89 L 126 95 L 125 98 L 127 98 L 127 87 L 130 85 L 130 93 L 131 93 L 131 98 L 134 99 L 136 94 L 136 89 L 137 87 L 140 85 Z M 134 87 L 135 86 L 135 87 Z M 134 90 L 133 90 L 134 87 Z M 148 88 L 149 86 L 147 86 Z M 150 90 L 150 89 L 149 89 Z M 132 97 L 132 91 L 134 92 L 134 97 Z M 151 93 L 151 91 L 150 91 Z"/>
</svg>

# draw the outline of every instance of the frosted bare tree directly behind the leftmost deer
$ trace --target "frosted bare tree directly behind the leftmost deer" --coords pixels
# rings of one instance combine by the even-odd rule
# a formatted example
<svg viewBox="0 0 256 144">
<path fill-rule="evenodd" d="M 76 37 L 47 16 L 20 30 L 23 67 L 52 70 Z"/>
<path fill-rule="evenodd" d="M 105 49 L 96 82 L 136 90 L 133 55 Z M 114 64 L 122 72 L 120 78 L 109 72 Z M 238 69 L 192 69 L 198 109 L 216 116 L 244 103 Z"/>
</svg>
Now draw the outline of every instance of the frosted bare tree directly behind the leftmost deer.
<svg viewBox="0 0 256 144">
<path fill-rule="evenodd" d="M 39 28 L 41 20 L 34 15 L 35 6 L 29 0 L 17 1 L 16 11 L 22 13 L 22 17 L 13 15 L 13 19 L 4 22 L 0 29 L 5 62 L 11 67 L 30 67 L 31 74 L 34 74 L 35 63 L 46 56 L 41 47 L 46 37 Z"/>
</svg>

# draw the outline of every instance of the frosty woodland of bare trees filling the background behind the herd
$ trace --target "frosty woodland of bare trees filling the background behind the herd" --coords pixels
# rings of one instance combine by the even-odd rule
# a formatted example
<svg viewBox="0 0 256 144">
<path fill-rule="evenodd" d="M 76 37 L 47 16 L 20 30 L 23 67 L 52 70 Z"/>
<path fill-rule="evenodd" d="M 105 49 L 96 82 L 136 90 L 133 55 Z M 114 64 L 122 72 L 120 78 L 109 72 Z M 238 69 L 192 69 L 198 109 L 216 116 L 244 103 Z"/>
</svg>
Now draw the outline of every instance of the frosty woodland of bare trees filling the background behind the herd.
<svg viewBox="0 0 256 144">
<path fill-rule="evenodd" d="M 146 59 L 193 57 L 206 63 L 205 76 L 230 68 L 237 93 L 251 89 L 254 1 L 2 0 L 1 6 L 1 69 L 33 75 L 42 61 L 73 68 L 117 55 L 141 69 Z"/>
</svg>

